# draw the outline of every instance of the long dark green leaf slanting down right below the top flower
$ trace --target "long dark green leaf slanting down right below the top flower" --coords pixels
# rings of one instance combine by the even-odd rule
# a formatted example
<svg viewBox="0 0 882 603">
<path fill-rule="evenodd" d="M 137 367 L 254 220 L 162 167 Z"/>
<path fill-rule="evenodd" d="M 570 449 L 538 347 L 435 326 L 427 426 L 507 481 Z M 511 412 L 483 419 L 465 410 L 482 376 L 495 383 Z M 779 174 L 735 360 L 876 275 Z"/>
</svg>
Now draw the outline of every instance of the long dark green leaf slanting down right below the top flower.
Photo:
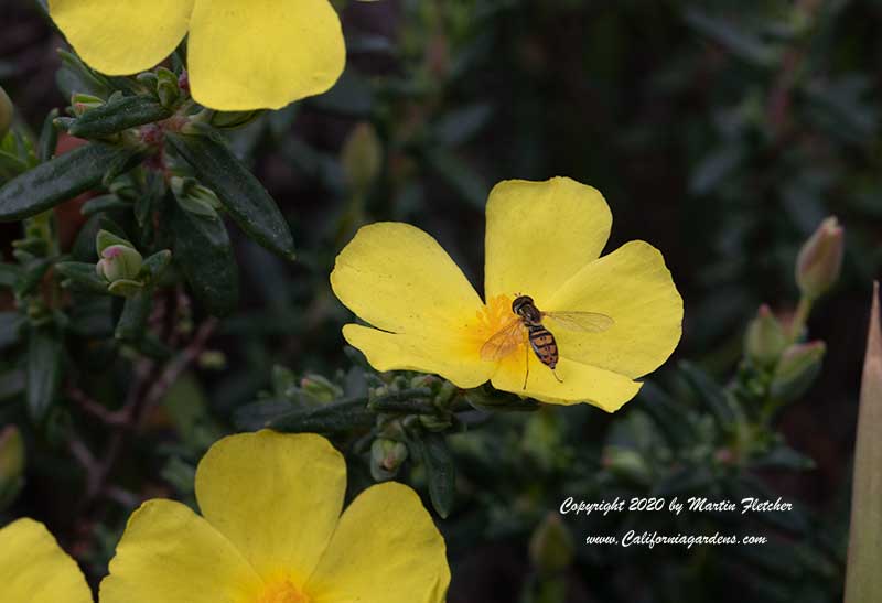
<svg viewBox="0 0 882 603">
<path fill-rule="evenodd" d="M 229 149 L 205 136 L 168 133 L 165 138 L 249 237 L 270 251 L 294 258 L 293 237 L 278 205 Z"/>
</svg>

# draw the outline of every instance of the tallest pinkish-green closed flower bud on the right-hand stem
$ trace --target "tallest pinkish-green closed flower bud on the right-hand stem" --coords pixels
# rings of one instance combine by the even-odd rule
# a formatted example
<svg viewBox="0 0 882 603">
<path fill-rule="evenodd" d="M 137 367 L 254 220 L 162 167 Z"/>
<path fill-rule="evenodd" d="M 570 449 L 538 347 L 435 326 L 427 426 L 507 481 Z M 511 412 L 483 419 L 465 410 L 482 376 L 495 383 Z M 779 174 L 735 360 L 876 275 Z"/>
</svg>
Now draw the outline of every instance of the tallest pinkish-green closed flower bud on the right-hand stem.
<svg viewBox="0 0 882 603">
<path fill-rule="evenodd" d="M 796 259 L 796 283 L 805 297 L 815 300 L 836 284 L 843 251 L 845 230 L 836 217 L 829 217 L 803 245 Z"/>
</svg>

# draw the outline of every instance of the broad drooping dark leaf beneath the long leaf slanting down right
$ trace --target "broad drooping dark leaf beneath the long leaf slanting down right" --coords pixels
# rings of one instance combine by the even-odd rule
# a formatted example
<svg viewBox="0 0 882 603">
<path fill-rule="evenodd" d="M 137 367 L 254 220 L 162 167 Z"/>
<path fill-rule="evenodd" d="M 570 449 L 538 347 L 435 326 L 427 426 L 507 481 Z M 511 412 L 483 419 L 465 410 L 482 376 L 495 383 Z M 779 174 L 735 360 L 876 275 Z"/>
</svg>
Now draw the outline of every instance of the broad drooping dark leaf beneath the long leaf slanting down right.
<svg viewBox="0 0 882 603">
<path fill-rule="evenodd" d="M 175 207 L 172 233 L 174 261 L 196 299 L 215 316 L 229 314 L 239 303 L 239 269 L 224 220 Z"/>
</svg>

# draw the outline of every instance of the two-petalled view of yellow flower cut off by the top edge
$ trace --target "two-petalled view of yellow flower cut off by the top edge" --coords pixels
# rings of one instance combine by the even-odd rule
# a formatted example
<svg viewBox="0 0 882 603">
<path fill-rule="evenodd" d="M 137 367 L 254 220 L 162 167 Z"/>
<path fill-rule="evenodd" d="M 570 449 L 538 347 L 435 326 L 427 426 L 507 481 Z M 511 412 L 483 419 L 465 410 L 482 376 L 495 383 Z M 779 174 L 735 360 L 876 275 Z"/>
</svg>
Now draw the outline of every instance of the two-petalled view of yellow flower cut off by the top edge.
<svg viewBox="0 0 882 603">
<path fill-rule="evenodd" d="M 50 0 L 80 57 L 108 75 L 162 62 L 184 35 L 193 98 L 219 110 L 278 109 L 327 90 L 346 61 L 329 0 Z"/>
</svg>

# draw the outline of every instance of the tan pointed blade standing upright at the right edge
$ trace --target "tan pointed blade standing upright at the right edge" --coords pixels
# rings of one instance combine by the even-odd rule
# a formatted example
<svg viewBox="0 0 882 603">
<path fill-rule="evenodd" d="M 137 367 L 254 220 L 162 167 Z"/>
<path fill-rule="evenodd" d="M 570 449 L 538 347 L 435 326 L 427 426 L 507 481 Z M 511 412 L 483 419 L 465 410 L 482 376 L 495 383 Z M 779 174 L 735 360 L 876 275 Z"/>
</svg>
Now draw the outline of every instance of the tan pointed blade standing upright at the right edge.
<svg viewBox="0 0 882 603">
<path fill-rule="evenodd" d="M 846 603 L 882 601 L 882 327 L 879 283 L 863 364 L 863 385 L 854 451 L 851 536 L 848 547 Z"/>
</svg>

